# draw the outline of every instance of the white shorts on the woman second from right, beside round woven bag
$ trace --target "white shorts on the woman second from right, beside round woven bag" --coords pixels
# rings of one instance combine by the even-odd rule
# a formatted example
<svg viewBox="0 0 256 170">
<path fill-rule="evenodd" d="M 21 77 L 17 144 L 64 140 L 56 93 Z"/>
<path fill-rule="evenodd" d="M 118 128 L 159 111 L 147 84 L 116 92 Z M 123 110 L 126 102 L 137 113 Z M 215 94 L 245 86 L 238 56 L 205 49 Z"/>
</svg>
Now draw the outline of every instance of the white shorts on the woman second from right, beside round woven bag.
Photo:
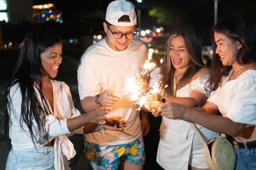
<svg viewBox="0 0 256 170">
<path fill-rule="evenodd" d="M 198 125 L 197 125 L 198 126 Z M 204 141 L 218 136 L 218 133 L 198 126 Z M 157 163 L 168 170 L 187 170 L 191 165 L 195 168 L 208 168 L 204 159 L 204 145 L 189 128 L 187 138 L 172 135 L 160 126 L 160 141 L 157 150 Z"/>
</svg>

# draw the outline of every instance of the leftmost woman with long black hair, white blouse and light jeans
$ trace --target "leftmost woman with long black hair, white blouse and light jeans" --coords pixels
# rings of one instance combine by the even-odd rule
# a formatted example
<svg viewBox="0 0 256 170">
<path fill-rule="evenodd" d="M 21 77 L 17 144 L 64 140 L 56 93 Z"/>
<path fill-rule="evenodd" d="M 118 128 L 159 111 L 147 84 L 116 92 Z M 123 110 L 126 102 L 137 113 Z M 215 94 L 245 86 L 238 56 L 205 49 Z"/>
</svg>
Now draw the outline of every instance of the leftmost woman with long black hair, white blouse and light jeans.
<svg viewBox="0 0 256 170">
<path fill-rule="evenodd" d="M 82 115 L 74 108 L 70 88 L 53 79 L 61 62 L 58 35 L 36 29 L 25 36 L 5 93 L 5 139 L 11 145 L 6 170 L 64 170 L 65 159 L 76 154 L 69 135 L 104 128 L 124 130 L 122 117 L 106 119 L 111 108 L 92 109 Z M 95 129 L 83 129 L 91 122 Z"/>
</svg>

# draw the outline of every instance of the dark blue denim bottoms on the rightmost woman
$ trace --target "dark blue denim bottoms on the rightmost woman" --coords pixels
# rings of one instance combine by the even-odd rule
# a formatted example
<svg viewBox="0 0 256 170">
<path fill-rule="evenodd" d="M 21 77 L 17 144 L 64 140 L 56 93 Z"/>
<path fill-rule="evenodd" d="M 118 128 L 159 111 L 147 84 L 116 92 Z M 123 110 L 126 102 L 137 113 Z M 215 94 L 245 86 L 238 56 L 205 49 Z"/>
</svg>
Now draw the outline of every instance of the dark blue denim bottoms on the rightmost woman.
<svg viewBox="0 0 256 170">
<path fill-rule="evenodd" d="M 256 170 L 256 148 L 236 148 L 236 170 Z"/>
</svg>

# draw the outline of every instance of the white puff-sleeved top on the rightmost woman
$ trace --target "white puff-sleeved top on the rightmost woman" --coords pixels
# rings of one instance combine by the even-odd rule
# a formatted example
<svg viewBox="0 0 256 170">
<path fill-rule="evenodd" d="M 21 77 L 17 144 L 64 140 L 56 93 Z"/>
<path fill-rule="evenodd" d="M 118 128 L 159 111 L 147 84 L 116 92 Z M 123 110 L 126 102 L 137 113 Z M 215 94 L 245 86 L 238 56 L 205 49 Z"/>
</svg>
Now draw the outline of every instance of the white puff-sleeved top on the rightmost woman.
<svg viewBox="0 0 256 170">
<path fill-rule="evenodd" d="M 229 75 L 222 78 L 222 83 L 207 100 L 216 104 L 222 116 L 249 125 L 256 125 L 256 71 L 247 70 L 234 80 Z"/>
</svg>

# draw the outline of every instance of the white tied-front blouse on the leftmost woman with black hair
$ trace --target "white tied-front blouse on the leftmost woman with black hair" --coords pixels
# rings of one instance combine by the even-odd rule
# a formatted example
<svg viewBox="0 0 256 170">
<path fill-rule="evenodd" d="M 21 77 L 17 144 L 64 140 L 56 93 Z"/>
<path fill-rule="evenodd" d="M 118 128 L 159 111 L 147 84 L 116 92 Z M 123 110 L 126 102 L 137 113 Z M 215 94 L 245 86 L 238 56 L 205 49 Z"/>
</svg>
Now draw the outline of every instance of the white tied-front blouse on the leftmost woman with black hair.
<svg viewBox="0 0 256 170">
<path fill-rule="evenodd" d="M 81 114 L 79 110 L 74 108 L 74 102 L 72 100 L 70 88 L 67 86 L 67 84 L 65 84 L 65 82 L 59 82 L 52 79 L 50 79 L 50 81 L 52 82 L 53 87 L 54 110 L 52 110 L 49 103 L 47 102 L 51 114 L 45 116 L 45 128 L 49 141 L 52 141 L 53 139 L 55 140 L 54 166 L 58 169 L 64 169 L 62 153 L 67 157 L 68 160 L 76 155 L 76 151 L 74 150 L 72 142 L 66 136 L 66 134 L 69 136 L 73 135 L 73 133 L 70 132 L 67 128 L 67 119 L 79 116 Z M 38 91 L 36 88 L 34 89 L 37 93 L 38 101 L 40 102 L 41 106 L 43 106 Z M 36 137 L 36 139 L 34 139 L 34 144 L 26 124 L 22 123 L 20 126 L 20 106 L 22 102 L 22 96 L 19 84 L 16 84 L 11 88 L 10 97 L 13 104 L 13 110 L 9 110 L 9 137 L 11 139 L 12 148 L 14 150 L 30 151 L 43 147 L 48 143 L 45 141 L 45 139 L 39 139 L 39 137 Z M 35 120 L 33 120 L 33 124 L 36 125 Z M 34 126 L 33 132 L 38 132 L 37 126 Z M 82 132 L 82 128 L 76 130 L 76 133 Z M 59 164 L 60 162 L 61 164 Z"/>
</svg>

